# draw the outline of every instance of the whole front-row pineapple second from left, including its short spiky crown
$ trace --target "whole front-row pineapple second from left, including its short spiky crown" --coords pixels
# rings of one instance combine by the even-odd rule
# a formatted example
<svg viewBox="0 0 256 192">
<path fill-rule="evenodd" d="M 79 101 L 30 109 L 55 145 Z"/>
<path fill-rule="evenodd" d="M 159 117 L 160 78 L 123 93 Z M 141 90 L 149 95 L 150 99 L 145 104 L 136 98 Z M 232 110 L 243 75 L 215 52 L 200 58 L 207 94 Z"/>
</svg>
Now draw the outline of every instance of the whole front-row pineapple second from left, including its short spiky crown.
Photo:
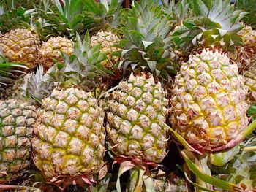
<svg viewBox="0 0 256 192">
<path fill-rule="evenodd" d="M 91 179 L 104 164 L 105 112 L 90 91 L 105 75 L 105 56 L 89 43 L 89 33 L 83 43 L 78 36 L 74 55 L 63 55 L 64 66 L 51 74 L 59 86 L 42 100 L 34 126 L 34 164 L 61 187 Z"/>
</svg>

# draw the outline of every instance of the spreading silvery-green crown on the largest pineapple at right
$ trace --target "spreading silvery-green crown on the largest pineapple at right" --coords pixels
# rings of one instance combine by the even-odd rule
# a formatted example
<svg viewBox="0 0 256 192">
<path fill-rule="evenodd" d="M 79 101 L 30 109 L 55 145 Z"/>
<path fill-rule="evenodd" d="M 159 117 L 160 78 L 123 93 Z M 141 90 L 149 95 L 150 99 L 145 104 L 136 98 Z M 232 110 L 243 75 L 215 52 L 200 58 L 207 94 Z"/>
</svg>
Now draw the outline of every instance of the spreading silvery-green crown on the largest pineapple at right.
<svg viewBox="0 0 256 192">
<path fill-rule="evenodd" d="M 184 26 L 173 32 L 173 41 L 185 51 L 195 47 L 221 48 L 234 51 L 235 45 L 242 45 L 236 34 L 243 26 L 238 23 L 246 12 L 234 11 L 228 0 L 193 0 L 196 19 L 187 19 Z"/>
</svg>

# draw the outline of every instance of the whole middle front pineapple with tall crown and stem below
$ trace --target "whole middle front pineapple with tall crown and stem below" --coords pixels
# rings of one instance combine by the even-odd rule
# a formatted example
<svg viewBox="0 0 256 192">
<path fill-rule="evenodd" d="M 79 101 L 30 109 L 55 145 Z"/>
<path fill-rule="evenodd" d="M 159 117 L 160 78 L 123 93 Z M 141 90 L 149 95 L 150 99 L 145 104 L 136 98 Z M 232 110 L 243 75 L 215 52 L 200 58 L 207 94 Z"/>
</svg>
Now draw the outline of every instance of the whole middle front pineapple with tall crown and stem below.
<svg viewBox="0 0 256 192">
<path fill-rule="evenodd" d="M 173 66 L 169 50 L 171 39 L 167 37 L 170 23 L 162 18 L 160 8 L 154 1 L 135 1 L 132 11 L 124 14 L 124 27 L 121 28 L 124 39 L 120 43 L 124 50 L 119 63 L 124 80 L 119 82 L 107 102 L 108 142 L 116 161 L 121 163 L 119 176 L 127 166 L 131 169 L 131 177 L 141 169 L 144 173 L 147 164 L 157 164 L 167 154 L 168 101 L 162 82 L 170 80 L 168 72 Z M 130 191 L 135 190 L 132 188 L 135 183 L 136 188 L 142 190 L 143 174 L 140 172 L 138 177 L 139 183 L 131 180 Z M 116 186 L 121 190 L 118 182 Z"/>
</svg>

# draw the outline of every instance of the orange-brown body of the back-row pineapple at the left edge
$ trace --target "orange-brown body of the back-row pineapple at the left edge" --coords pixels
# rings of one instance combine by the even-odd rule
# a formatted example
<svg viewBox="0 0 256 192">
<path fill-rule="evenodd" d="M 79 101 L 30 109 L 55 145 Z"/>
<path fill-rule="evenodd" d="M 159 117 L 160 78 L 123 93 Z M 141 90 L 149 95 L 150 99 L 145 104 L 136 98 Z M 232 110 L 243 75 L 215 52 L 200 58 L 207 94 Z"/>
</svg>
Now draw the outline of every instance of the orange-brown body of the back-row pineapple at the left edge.
<svg viewBox="0 0 256 192">
<path fill-rule="evenodd" d="M 23 62 L 29 69 L 37 66 L 40 39 L 23 28 L 11 30 L 0 37 L 0 51 L 14 62 Z"/>
</svg>

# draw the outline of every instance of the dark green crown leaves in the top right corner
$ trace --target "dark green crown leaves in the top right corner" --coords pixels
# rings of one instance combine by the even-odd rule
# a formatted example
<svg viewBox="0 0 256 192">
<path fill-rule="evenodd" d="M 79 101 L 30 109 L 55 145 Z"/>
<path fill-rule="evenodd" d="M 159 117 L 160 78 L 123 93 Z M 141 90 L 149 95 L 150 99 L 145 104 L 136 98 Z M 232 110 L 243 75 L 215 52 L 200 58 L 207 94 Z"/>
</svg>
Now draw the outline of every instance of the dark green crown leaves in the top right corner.
<svg viewBox="0 0 256 192">
<path fill-rule="evenodd" d="M 236 9 L 248 12 L 243 18 L 244 23 L 256 28 L 256 4 L 255 0 L 236 0 Z"/>
</svg>

